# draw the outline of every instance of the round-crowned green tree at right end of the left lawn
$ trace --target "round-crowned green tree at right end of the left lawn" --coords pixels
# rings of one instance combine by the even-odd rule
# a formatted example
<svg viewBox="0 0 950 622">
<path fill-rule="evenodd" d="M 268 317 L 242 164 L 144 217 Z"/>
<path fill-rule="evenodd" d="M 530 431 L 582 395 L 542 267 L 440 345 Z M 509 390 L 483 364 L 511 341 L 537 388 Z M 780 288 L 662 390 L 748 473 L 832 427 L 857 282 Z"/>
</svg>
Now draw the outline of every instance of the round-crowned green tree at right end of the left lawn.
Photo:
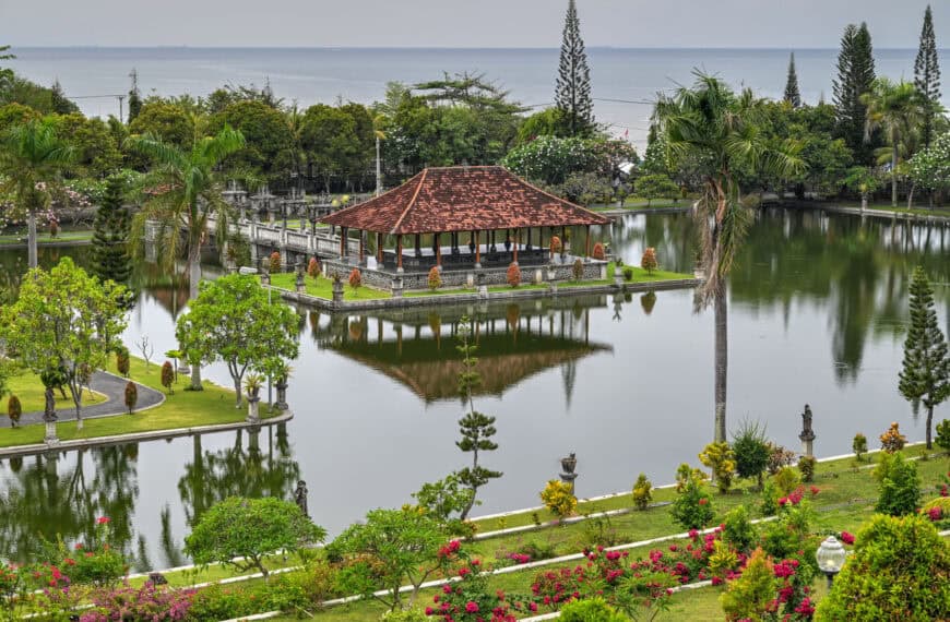
<svg viewBox="0 0 950 622">
<path fill-rule="evenodd" d="M 253 276 L 233 274 L 202 283 L 189 312 L 178 319 L 175 336 L 189 357 L 227 364 L 240 408 L 248 369 L 268 373 L 275 360 L 297 358 L 297 324 L 289 307 L 268 302 Z"/>
</svg>

